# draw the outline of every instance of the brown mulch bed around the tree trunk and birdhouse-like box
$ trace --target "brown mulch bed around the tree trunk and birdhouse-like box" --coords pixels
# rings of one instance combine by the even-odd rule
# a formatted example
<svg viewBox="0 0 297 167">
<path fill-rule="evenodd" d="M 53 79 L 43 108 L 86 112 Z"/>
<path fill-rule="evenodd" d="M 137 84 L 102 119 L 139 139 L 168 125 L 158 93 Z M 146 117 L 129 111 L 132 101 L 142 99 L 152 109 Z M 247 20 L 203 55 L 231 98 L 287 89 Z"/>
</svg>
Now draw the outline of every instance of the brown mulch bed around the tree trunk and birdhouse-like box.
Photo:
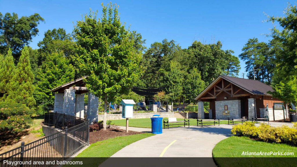
<svg viewBox="0 0 297 167">
<path fill-rule="evenodd" d="M 128 136 L 128 135 L 135 135 L 140 133 L 141 132 L 135 132 L 131 130 L 129 130 L 129 132 L 126 133 L 126 130 L 114 129 L 114 128 L 107 128 L 106 130 L 101 129 L 95 132 L 90 132 L 90 144 L 96 143 L 97 141 L 114 138 L 117 136 Z"/>
</svg>

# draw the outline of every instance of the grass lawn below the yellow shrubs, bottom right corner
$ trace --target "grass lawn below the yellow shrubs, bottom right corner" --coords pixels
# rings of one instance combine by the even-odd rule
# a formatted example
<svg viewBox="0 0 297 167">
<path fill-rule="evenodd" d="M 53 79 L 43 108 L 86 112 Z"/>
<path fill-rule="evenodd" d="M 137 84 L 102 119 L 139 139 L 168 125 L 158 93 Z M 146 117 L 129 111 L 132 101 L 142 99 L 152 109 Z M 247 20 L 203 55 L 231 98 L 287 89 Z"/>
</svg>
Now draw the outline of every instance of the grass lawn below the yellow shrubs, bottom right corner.
<svg viewBox="0 0 297 167">
<path fill-rule="evenodd" d="M 242 155 L 242 152 L 293 152 L 294 155 Z M 296 158 L 283 158 L 297 157 L 297 147 L 252 140 L 248 137 L 231 136 L 220 141 L 212 150 L 212 155 L 219 167 L 258 166 L 259 164 L 262 164 L 261 166 L 296 166 Z"/>
</svg>

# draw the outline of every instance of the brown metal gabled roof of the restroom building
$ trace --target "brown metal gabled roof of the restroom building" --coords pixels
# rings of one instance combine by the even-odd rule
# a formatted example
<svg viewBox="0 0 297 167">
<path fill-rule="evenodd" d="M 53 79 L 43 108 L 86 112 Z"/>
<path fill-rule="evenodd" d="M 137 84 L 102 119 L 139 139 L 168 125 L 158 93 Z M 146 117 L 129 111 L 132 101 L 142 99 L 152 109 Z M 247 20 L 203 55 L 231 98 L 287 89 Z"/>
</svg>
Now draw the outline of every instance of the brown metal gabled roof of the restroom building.
<svg viewBox="0 0 297 167">
<path fill-rule="evenodd" d="M 271 86 L 258 81 L 258 80 L 252 80 L 252 79 L 244 79 L 244 78 L 237 78 L 237 77 L 230 77 L 225 75 L 220 75 L 217 79 L 215 79 L 210 85 L 208 85 L 196 98 L 195 100 L 198 100 L 200 97 L 202 97 L 203 94 L 205 94 L 212 86 L 214 86 L 215 83 L 217 83 L 220 79 L 225 79 L 226 81 L 229 81 L 230 83 L 233 83 L 234 85 L 240 87 L 241 89 L 246 90 L 247 92 L 254 94 L 254 95 L 266 95 L 271 96 L 271 94 L 267 93 L 268 91 L 274 92 Z"/>
</svg>

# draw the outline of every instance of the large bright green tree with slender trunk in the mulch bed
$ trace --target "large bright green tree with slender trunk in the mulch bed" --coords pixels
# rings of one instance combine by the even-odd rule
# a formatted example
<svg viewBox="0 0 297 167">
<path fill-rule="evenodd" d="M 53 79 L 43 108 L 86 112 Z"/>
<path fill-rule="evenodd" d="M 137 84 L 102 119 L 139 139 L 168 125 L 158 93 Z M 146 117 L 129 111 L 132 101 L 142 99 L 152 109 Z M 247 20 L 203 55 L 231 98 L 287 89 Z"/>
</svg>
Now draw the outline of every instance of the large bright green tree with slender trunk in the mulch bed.
<svg viewBox="0 0 297 167">
<path fill-rule="evenodd" d="M 90 12 L 74 27 L 78 44 L 76 67 L 88 75 L 86 87 L 104 100 L 103 129 L 106 130 L 108 101 L 127 92 L 141 75 L 141 54 L 133 47 L 129 29 L 120 22 L 118 7 L 103 6 L 102 18 Z"/>
</svg>

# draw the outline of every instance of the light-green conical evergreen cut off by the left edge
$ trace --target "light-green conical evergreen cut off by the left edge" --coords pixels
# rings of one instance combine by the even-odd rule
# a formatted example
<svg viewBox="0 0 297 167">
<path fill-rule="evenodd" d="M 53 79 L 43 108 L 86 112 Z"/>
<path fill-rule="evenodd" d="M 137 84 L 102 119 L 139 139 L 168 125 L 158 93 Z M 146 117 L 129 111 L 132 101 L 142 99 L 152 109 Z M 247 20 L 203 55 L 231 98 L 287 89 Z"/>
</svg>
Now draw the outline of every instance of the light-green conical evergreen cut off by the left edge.
<svg viewBox="0 0 297 167">
<path fill-rule="evenodd" d="M 15 64 L 12 51 L 9 49 L 7 55 L 0 56 L 0 100 L 4 101 L 8 95 L 12 77 L 15 74 Z"/>
</svg>

